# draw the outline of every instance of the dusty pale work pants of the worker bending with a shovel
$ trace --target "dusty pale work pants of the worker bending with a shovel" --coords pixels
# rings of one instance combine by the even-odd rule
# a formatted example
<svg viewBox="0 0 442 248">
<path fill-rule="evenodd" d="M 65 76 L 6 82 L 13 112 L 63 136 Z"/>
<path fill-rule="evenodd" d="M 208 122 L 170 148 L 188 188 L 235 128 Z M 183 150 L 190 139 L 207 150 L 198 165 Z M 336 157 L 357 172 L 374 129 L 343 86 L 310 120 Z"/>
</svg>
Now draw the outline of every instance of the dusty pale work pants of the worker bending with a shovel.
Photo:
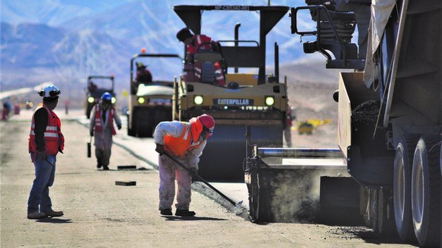
<svg viewBox="0 0 442 248">
<path fill-rule="evenodd" d="M 160 206 L 159 210 L 172 209 L 173 198 L 175 197 L 175 178 L 178 184 L 177 204 L 175 208 L 188 210 L 191 204 L 192 176 L 188 172 L 175 165 L 167 156 L 158 156 L 160 170 Z M 186 165 L 184 163 L 184 165 Z M 187 166 L 187 165 L 186 165 Z"/>
</svg>

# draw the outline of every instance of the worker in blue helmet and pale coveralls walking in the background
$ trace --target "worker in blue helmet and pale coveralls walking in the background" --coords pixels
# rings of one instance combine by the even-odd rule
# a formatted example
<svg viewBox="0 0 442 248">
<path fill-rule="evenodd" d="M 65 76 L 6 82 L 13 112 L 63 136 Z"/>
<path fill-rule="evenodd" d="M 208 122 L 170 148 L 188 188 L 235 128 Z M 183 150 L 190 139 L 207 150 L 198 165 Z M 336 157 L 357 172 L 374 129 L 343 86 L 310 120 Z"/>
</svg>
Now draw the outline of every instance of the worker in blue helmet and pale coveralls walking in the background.
<svg viewBox="0 0 442 248">
<path fill-rule="evenodd" d="M 117 128 L 121 129 L 121 120 L 112 106 L 112 95 L 104 92 L 101 100 L 90 112 L 90 136 L 94 138 L 97 169 L 103 167 L 108 170 L 110 150 L 112 148 L 112 135 L 116 135 L 114 120 Z M 95 132 L 94 132 L 95 131 Z M 95 135 L 94 135 L 95 134 Z"/>
</svg>

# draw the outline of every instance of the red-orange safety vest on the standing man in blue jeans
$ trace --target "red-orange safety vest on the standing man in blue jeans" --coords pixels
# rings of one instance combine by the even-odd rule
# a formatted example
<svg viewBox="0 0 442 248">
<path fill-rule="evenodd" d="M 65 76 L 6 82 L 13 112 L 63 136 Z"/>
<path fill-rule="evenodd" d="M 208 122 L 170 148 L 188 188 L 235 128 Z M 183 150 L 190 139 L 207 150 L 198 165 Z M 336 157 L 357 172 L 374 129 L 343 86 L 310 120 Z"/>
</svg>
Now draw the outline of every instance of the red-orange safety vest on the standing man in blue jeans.
<svg viewBox="0 0 442 248">
<path fill-rule="evenodd" d="M 43 140 L 45 141 L 45 151 L 47 155 L 56 155 L 59 150 L 64 149 L 64 137 L 62 134 L 62 124 L 60 119 L 53 113 L 53 111 L 49 110 L 45 105 L 42 105 L 34 111 L 34 115 L 36 111 L 40 108 L 45 108 L 47 111 L 47 126 L 43 136 Z M 32 115 L 32 124 L 31 124 L 31 132 L 29 133 L 29 152 L 37 152 L 37 145 L 35 141 L 35 120 L 34 115 Z"/>
</svg>

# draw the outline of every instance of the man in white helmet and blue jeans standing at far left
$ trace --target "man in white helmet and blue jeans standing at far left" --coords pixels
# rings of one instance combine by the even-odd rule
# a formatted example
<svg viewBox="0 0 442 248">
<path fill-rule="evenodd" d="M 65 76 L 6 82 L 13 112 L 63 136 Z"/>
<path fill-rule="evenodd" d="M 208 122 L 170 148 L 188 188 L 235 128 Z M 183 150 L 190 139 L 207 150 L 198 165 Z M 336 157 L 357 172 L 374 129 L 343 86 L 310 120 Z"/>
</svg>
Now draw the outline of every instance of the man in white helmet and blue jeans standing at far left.
<svg viewBox="0 0 442 248">
<path fill-rule="evenodd" d="M 27 218 L 60 217 L 62 211 L 52 210 L 49 187 L 56 176 L 56 155 L 64 148 L 61 122 L 53 109 L 58 103 L 60 89 L 47 85 L 39 93 L 43 102 L 32 116 L 29 153 L 35 167 L 35 180 L 27 200 Z"/>
</svg>

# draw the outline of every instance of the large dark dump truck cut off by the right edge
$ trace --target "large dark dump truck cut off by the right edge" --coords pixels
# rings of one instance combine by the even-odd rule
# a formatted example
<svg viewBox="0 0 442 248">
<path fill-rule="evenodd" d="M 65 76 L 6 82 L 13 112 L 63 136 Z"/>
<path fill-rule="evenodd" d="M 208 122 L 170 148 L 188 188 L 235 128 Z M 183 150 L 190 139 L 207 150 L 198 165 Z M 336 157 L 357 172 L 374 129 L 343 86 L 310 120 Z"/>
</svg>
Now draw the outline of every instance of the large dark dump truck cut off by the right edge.
<svg viewBox="0 0 442 248">
<path fill-rule="evenodd" d="M 417 240 L 421 247 L 440 247 L 441 1 L 306 3 L 291 8 L 292 33 L 316 38 L 304 43 L 304 52 L 322 53 L 326 68 L 353 69 L 340 72 L 335 94 L 339 150 L 350 177 L 321 178 L 321 204 L 328 199 L 323 193 L 351 183 L 352 196 L 337 199 L 353 202 L 374 232 L 397 233 L 404 242 Z M 312 17 L 316 27 L 297 26 L 302 12 Z M 352 43 L 356 27 L 358 44 Z M 260 162 L 266 149 L 255 150 L 247 167 L 249 178 L 269 169 Z M 295 150 L 271 150 L 267 156 L 271 153 L 287 159 L 305 156 Z M 260 180 L 251 180 L 250 187 L 271 178 Z M 259 191 L 251 191 L 251 196 L 256 195 Z M 257 204 L 256 199 L 252 202 Z M 347 218 L 341 215 L 341 220 Z"/>
</svg>

